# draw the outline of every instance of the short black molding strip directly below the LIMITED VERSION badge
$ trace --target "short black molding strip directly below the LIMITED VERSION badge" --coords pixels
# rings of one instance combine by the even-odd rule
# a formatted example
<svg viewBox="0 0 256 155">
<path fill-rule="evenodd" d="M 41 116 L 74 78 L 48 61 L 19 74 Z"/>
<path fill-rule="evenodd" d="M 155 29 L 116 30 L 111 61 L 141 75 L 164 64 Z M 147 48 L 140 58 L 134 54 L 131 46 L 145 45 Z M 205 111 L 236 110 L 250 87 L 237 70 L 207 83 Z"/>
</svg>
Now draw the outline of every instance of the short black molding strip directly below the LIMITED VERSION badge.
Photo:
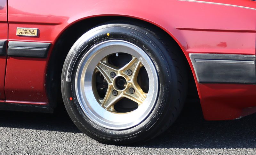
<svg viewBox="0 0 256 155">
<path fill-rule="evenodd" d="M 9 41 L 8 56 L 46 58 L 51 43 Z"/>
</svg>

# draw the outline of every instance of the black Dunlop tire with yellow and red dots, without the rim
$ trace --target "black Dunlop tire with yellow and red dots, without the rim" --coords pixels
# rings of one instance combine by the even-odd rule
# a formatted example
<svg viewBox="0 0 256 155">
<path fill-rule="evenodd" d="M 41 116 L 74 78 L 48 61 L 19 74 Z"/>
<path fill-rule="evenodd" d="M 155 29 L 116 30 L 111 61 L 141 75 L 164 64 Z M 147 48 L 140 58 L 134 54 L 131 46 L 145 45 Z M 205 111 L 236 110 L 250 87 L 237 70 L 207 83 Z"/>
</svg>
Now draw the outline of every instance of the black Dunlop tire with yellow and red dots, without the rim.
<svg viewBox="0 0 256 155">
<path fill-rule="evenodd" d="M 107 33 L 110 35 L 108 36 Z M 82 56 L 93 45 L 112 39 L 129 41 L 143 49 L 151 58 L 158 74 L 159 90 L 155 107 L 143 122 L 126 130 L 110 130 L 92 122 L 79 105 L 74 87 L 74 75 Z M 71 78 L 70 81 L 67 80 L 68 75 Z M 166 123 L 165 117 L 170 117 L 168 112 L 174 107 L 172 102 L 176 101 L 177 80 L 172 59 L 153 34 L 134 25 L 101 25 L 86 32 L 70 49 L 63 66 L 61 79 L 64 104 L 73 122 L 88 136 L 105 143 L 134 143 L 152 137 L 157 132 L 157 128 Z"/>
</svg>

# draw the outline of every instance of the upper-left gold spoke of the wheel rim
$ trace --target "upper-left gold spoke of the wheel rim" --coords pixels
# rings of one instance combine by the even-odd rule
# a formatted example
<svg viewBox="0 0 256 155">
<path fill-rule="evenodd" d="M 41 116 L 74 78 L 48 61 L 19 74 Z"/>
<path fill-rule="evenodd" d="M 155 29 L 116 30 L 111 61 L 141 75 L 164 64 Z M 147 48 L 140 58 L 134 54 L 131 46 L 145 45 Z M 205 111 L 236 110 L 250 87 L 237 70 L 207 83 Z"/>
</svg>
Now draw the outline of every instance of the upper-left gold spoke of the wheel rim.
<svg viewBox="0 0 256 155">
<path fill-rule="evenodd" d="M 111 72 L 114 72 L 115 75 L 118 74 L 117 69 L 106 63 L 106 61 L 101 60 L 96 68 L 100 71 L 100 73 L 104 76 L 108 84 L 111 84 L 113 78 L 110 76 Z"/>
</svg>

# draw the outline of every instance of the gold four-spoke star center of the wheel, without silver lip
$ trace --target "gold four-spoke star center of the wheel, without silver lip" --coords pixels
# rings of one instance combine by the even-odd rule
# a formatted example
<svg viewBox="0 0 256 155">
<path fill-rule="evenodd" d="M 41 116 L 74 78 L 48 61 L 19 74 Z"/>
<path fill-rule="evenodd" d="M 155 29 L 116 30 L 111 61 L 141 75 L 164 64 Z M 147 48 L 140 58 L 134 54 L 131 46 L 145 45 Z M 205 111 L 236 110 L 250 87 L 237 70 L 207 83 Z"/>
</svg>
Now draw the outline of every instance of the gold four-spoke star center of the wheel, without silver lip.
<svg viewBox="0 0 256 155">
<path fill-rule="evenodd" d="M 118 55 L 118 53 L 116 53 Z M 108 63 L 107 57 L 99 62 L 95 72 L 100 72 L 108 83 L 104 99 L 99 99 L 101 106 L 111 112 L 117 112 L 114 105 L 122 98 L 128 98 L 141 105 L 147 97 L 137 82 L 143 64 L 136 57 L 124 67 L 117 68 Z"/>
</svg>

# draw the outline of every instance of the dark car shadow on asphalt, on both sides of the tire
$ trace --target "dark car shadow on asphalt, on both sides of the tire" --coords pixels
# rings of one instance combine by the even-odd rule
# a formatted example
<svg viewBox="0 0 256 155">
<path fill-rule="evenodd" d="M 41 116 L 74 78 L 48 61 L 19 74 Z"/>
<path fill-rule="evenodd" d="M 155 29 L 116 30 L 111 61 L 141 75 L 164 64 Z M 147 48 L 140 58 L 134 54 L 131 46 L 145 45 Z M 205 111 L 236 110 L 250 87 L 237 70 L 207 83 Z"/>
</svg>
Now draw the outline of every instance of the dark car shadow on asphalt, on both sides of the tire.
<svg viewBox="0 0 256 155">
<path fill-rule="evenodd" d="M 205 121 L 199 104 L 187 104 L 177 121 L 148 148 L 256 148 L 256 114 L 231 121 Z M 60 108 L 54 114 L 0 111 L 0 127 L 81 133 Z"/>
</svg>

